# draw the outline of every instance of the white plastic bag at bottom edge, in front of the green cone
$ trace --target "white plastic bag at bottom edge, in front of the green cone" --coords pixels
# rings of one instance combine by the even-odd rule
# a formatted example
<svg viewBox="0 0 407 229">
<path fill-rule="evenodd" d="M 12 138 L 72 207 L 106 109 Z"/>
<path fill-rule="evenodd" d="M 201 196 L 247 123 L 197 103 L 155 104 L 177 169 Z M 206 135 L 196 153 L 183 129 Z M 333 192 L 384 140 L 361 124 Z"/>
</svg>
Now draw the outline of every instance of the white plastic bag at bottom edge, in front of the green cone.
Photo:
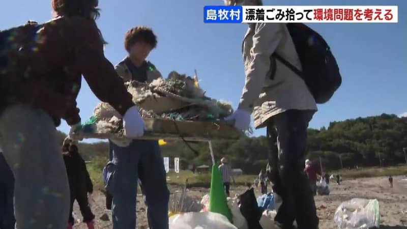
<svg viewBox="0 0 407 229">
<path fill-rule="evenodd" d="M 189 212 L 169 218 L 169 229 L 238 229 L 229 220 L 213 212 Z"/>
</svg>

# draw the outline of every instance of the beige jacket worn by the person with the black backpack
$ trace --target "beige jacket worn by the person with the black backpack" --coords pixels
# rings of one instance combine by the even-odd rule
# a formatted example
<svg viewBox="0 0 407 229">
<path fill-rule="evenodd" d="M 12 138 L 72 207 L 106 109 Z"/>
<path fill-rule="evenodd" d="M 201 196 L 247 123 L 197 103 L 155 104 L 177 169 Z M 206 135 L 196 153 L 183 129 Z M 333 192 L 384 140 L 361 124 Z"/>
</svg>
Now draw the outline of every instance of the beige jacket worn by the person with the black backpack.
<svg viewBox="0 0 407 229">
<path fill-rule="evenodd" d="M 242 44 L 246 82 L 239 108 L 253 113 L 255 128 L 265 127 L 268 119 L 289 109 L 317 110 L 304 80 L 270 59 L 275 51 L 302 70 L 284 23 L 249 24 Z"/>
</svg>

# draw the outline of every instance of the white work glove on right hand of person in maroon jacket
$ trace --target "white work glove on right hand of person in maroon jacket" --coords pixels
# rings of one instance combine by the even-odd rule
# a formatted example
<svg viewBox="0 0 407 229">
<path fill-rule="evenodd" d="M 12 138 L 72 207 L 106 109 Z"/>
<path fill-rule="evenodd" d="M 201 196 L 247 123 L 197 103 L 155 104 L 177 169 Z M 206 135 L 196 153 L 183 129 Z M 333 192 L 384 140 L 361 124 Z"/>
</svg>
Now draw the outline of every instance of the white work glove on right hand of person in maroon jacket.
<svg viewBox="0 0 407 229">
<path fill-rule="evenodd" d="M 124 135 L 127 138 L 137 138 L 144 135 L 144 121 L 138 113 L 138 107 L 130 107 L 123 116 Z"/>
</svg>

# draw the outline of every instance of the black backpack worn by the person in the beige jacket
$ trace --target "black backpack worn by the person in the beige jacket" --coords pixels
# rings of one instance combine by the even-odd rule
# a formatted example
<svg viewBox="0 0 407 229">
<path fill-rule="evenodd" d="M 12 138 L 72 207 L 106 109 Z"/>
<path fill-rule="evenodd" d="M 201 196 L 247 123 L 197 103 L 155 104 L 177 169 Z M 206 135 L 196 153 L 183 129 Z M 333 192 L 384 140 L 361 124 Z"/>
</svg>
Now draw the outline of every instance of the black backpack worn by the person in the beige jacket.
<svg viewBox="0 0 407 229">
<path fill-rule="evenodd" d="M 324 38 L 303 23 L 287 23 L 302 71 L 274 52 L 272 57 L 301 76 L 316 103 L 326 103 L 342 83 L 331 49 Z"/>
</svg>

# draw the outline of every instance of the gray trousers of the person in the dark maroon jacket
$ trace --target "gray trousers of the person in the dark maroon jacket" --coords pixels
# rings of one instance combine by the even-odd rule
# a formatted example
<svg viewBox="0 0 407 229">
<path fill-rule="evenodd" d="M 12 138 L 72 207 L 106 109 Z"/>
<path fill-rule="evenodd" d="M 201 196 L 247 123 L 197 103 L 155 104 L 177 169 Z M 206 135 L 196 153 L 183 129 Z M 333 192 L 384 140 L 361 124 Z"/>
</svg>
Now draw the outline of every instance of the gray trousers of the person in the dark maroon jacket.
<svg viewBox="0 0 407 229">
<path fill-rule="evenodd" d="M 28 105 L 0 116 L 0 146 L 15 177 L 18 229 L 66 229 L 69 185 L 50 116 Z"/>
</svg>

